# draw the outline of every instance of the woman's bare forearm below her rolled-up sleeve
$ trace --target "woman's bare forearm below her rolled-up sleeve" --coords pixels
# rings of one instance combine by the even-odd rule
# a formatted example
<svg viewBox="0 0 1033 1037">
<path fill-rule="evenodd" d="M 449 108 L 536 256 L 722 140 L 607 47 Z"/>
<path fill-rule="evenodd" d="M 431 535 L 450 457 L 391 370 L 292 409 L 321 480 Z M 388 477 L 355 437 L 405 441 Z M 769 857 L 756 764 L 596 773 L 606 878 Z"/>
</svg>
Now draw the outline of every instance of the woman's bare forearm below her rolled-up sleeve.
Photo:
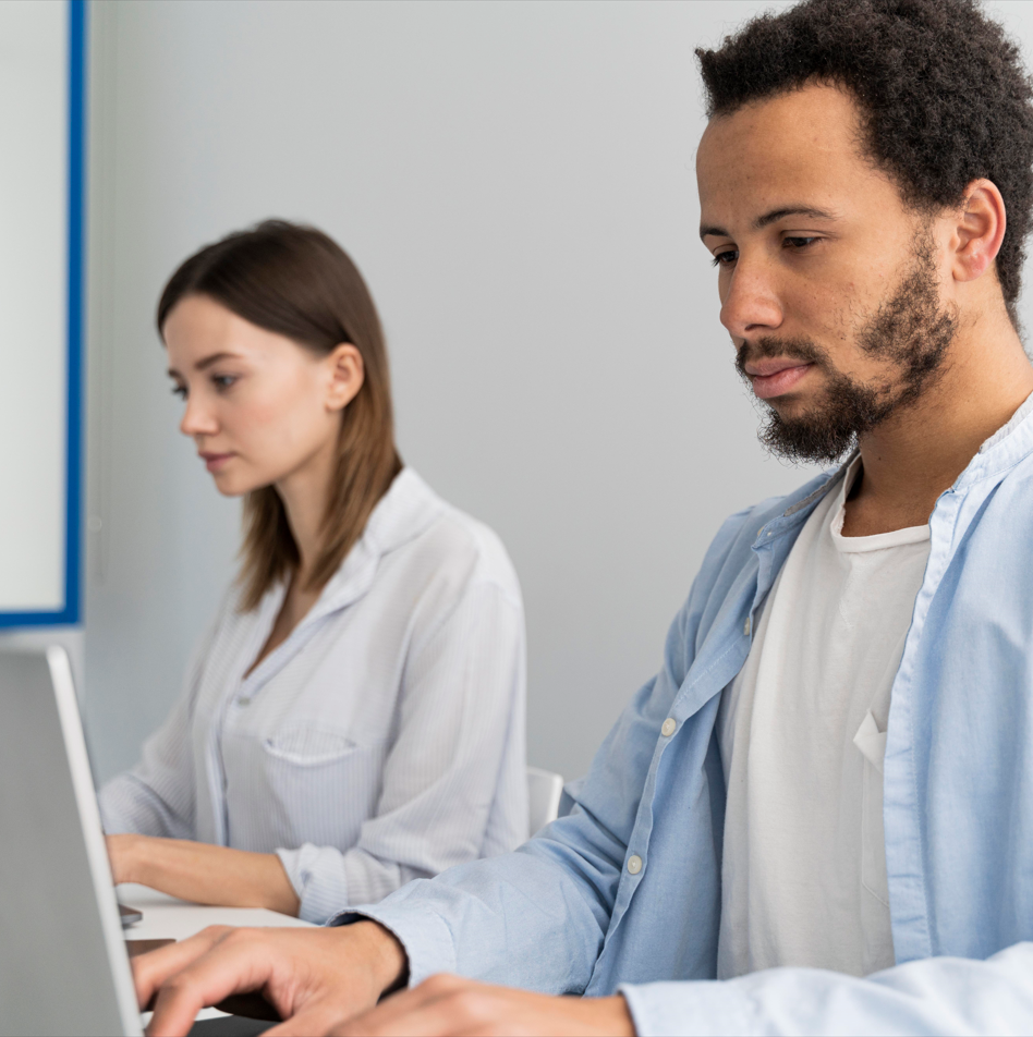
<svg viewBox="0 0 1033 1037">
<path fill-rule="evenodd" d="M 297 915 L 297 895 L 276 854 L 147 835 L 110 835 L 108 853 L 117 882 L 139 882 L 197 904 Z"/>
</svg>

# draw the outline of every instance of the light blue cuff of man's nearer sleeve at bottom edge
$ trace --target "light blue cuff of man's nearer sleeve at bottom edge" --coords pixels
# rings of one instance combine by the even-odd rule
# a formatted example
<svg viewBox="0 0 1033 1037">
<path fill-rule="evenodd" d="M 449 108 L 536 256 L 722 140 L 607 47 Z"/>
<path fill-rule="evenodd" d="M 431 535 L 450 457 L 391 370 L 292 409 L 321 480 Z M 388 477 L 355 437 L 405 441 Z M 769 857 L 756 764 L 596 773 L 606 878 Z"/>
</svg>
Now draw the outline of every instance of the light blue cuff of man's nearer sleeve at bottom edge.
<svg viewBox="0 0 1033 1037">
<path fill-rule="evenodd" d="M 759 1034 L 740 984 L 719 980 L 621 984 L 639 1037 Z"/>
</svg>

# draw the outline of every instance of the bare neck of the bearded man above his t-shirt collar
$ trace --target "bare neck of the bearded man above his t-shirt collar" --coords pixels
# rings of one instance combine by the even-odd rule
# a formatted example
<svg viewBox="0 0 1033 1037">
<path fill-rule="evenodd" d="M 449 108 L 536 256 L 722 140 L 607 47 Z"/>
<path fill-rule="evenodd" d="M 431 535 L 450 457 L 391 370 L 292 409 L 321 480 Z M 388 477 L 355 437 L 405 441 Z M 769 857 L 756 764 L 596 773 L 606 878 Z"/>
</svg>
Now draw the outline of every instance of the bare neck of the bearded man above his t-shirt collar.
<svg viewBox="0 0 1033 1037">
<path fill-rule="evenodd" d="M 1011 325 L 995 321 L 993 334 L 980 325 L 959 334 L 945 370 L 914 405 L 862 438 L 844 536 L 928 522 L 940 493 L 1033 392 L 1033 366 Z"/>
</svg>

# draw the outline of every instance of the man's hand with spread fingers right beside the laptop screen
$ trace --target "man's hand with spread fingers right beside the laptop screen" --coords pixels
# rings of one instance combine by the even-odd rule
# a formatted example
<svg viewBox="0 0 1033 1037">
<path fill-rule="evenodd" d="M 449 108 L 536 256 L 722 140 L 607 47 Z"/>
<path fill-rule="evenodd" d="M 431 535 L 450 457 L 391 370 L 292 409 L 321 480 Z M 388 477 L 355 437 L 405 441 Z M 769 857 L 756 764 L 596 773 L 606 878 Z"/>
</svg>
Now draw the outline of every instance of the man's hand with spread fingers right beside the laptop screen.
<svg viewBox="0 0 1033 1037">
<path fill-rule="evenodd" d="M 375 1005 L 404 972 L 405 952 L 375 922 L 332 929 L 211 926 L 132 965 L 141 1008 L 155 998 L 150 1037 L 185 1034 L 203 1008 L 253 990 L 285 1020 L 270 1037 L 287 1037 L 326 1034 Z"/>
</svg>

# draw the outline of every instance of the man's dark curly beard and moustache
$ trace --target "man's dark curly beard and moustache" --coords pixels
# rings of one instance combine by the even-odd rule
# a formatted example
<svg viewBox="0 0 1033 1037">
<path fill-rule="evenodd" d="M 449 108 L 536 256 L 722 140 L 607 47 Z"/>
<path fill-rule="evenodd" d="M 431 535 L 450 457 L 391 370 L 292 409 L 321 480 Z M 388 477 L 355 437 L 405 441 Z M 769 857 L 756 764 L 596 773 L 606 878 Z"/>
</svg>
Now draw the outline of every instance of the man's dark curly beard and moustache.
<svg viewBox="0 0 1033 1037">
<path fill-rule="evenodd" d="M 762 357 L 801 359 L 826 377 L 823 398 L 797 417 L 782 417 L 768 404 L 767 420 L 757 434 L 761 442 L 790 461 L 837 461 L 859 437 L 913 404 L 936 380 L 956 331 L 953 315 L 939 304 L 929 252 L 919 246 L 912 272 L 856 337 L 868 356 L 888 361 L 895 368 L 884 382 L 854 381 L 836 369 L 825 350 L 806 339 L 744 342 L 736 367 L 748 382 L 746 363 Z"/>
</svg>

